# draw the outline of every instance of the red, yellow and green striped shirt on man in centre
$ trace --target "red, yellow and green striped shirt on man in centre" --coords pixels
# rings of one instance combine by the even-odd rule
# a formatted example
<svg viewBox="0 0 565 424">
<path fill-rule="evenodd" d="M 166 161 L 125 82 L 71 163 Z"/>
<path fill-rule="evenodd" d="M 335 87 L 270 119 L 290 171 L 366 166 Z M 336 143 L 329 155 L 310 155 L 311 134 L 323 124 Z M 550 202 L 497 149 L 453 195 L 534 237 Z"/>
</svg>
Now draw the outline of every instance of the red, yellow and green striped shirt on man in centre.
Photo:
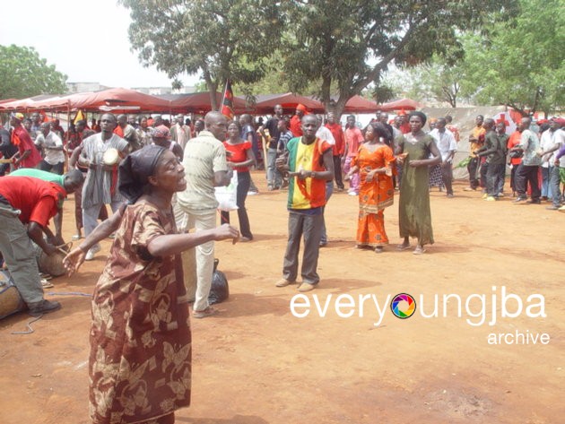
<svg viewBox="0 0 565 424">
<path fill-rule="evenodd" d="M 286 145 L 291 172 L 324 171 L 324 153 L 332 146 L 317 138 L 313 143 L 302 143 L 302 137 L 296 137 Z M 326 204 L 326 181 L 319 178 L 291 178 L 289 186 L 288 209 L 314 209 Z"/>
</svg>

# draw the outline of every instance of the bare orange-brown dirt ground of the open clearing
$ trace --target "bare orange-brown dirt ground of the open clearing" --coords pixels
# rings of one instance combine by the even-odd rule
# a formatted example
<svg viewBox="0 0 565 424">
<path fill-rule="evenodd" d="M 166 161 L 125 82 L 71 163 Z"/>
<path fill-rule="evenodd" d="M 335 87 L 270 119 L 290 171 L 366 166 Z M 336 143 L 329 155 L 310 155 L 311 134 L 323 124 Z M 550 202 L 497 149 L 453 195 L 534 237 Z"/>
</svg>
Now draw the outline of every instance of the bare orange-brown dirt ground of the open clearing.
<svg viewBox="0 0 565 424">
<path fill-rule="evenodd" d="M 307 293 L 309 316 L 299 318 L 291 313 L 296 286 L 274 287 L 286 245 L 286 193 L 267 192 L 260 172 L 254 180 L 261 193 L 248 197 L 248 212 L 256 239 L 216 244 L 230 299 L 217 316 L 192 321 L 193 405 L 178 411 L 178 423 L 564 422 L 565 213 L 508 197 L 483 202 L 460 182 L 454 199 L 431 193 L 436 244 L 425 255 L 395 249 L 397 198 L 385 212 L 391 245 L 376 255 L 354 248 L 357 198 L 335 194 L 326 208 L 322 281 Z M 73 204 L 65 205 L 69 239 Z M 46 296 L 63 309 L 32 324 L 34 333 L 12 334 L 26 329 L 23 313 L 0 322 L 1 424 L 89 422 L 90 298 L 64 293 L 91 294 L 110 242 L 73 278 L 53 281 Z M 517 295 L 506 305 L 503 286 Z M 388 298 L 402 292 L 418 304 L 404 320 L 391 313 Z M 460 314 L 456 296 L 444 300 L 448 294 L 461 299 Z M 474 294 L 485 299 L 485 322 L 476 326 L 467 322 L 480 322 Z M 532 294 L 543 296 L 545 317 L 526 315 L 527 306 L 530 315 L 541 312 L 539 300 L 527 300 Z M 354 308 L 338 311 L 352 316 L 338 315 L 338 295 L 351 296 L 341 301 Z M 426 318 L 435 295 L 439 316 Z M 362 317 L 360 296 L 368 299 Z M 374 299 L 384 308 L 378 325 Z M 502 317 L 503 307 L 517 313 L 518 299 L 521 314 Z M 491 333 L 509 333 L 512 342 L 517 332 L 528 344 L 489 343 Z"/>
</svg>

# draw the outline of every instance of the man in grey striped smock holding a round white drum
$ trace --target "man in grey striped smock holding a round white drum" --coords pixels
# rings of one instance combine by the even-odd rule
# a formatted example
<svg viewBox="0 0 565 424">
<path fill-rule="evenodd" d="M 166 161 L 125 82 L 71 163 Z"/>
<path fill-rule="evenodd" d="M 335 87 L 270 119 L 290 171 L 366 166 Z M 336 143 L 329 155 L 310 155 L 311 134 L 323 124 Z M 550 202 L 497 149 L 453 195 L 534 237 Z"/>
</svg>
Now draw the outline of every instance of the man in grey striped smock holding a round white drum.
<svg viewBox="0 0 565 424">
<path fill-rule="evenodd" d="M 117 119 L 111 113 L 100 117 L 100 130 L 83 140 L 79 165 L 88 168 L 83 185 L 83 226 L 88 236 L 98 224 L 100 208 L 109 204 L 116 212 L 125 198 L 117 190 L 117 167 L 129 153 L 129 143 L 114 134 Z M 86 260 L 91 261 L 100 252 L 96 244 L 87 252 Z"/>
</svg>

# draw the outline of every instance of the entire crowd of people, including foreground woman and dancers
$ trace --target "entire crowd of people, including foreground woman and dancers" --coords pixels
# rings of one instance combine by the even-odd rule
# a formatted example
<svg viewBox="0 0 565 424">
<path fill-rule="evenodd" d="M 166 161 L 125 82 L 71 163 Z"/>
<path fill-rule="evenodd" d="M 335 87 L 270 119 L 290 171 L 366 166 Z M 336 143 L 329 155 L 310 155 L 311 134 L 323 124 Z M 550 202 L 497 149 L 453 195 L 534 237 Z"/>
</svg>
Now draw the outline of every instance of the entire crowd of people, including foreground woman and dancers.
<svg viewBox="0 0 565 424">
<path fill-rule="evenodd" d="M 465 189 L 482 189 L 485 201 L 496 201 L 505 195 L 510 165 L 515 203 L 549 200 L 548 209 L 563 210 L 563 124 L 552 118 L 534 125 L 525 117 L 508 136 L 504 123 L 477 117 L 469 135 Z M 415 111 L 389 120 L 387 113 L 378 113 L 365 128 L 349 116 L 343 128 L 335 114 L 316 116 L 302 105 L 292 117 L 275 106 L 264 125 L 255 125 L 249 115 L 228 121 L 214 111 L 194 125 L 182 115 L 168 123 L 161 117 L 105 113 L 90 126 L 79 119 L 66 131 L 57 120 L 13 113 L 10 128 L 0 126 L 0 135 L 6 159 L 0 177 L 5 222 L 0 251 L 30 314 L 61 307 L 43 298 L 35 246 L 54 255 L 64 243 L 66 195 L 75 193 L 74 238 L 82 240 L 65 257 L 70 273 L 100 252 L 100 240 L 114 238 L 92 299 L 89 370 L 95 423 L 171 423 L 174 411 L 189 404 L 188 304 L 195 318 L 217 312 L 208 301 L 214 241 L 253 241 L 246 208 L 254 190 L 250 169 L 262 163 L 267 189 L 288 191 L 288 240 L 275 285 L 295 285 L 304 292 L 320 282 L 325 207 L 345 183 L 359 201 L 357 248 L 385 250 L 384 212 L 398 191 L 402 241 L 396 248 L 411 249 L 410 238 L 416 238 L 413 254 L 424 254 L 434 243 L 430 186 L 455 196 L 460 143 L 448 116 L 428 119 Z M 239 229 L 230 225 L 227 211 L 217 226 L 214 195 L 214 187 L 229 185 L 234 172 Z M 55 233 L 48 226 L 51 218 Z M 181 260 L 183 252 L 192 252 L 188 263 Z"/>
</svg>

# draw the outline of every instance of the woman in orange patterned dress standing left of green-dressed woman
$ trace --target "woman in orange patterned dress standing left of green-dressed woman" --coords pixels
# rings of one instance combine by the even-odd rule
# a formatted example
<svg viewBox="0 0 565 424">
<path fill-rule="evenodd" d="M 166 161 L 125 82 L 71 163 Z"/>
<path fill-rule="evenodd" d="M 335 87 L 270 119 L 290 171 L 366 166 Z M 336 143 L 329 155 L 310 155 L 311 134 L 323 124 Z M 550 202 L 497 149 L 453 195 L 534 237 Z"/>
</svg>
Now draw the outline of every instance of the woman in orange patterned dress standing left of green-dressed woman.
<svg viewBox="0 0 565 424">
<path fill-rule="evenodd" d="M 367 126 L 366 143 L 359 148 L 349 174 L 359 172 L 359 221 L 357 248 L 372 248 L 381 253 L 388 244 L 384 210 L 394 203 L 393 151 L 387 146 L 387 128 L 373 122 Z"/>
</svg>

